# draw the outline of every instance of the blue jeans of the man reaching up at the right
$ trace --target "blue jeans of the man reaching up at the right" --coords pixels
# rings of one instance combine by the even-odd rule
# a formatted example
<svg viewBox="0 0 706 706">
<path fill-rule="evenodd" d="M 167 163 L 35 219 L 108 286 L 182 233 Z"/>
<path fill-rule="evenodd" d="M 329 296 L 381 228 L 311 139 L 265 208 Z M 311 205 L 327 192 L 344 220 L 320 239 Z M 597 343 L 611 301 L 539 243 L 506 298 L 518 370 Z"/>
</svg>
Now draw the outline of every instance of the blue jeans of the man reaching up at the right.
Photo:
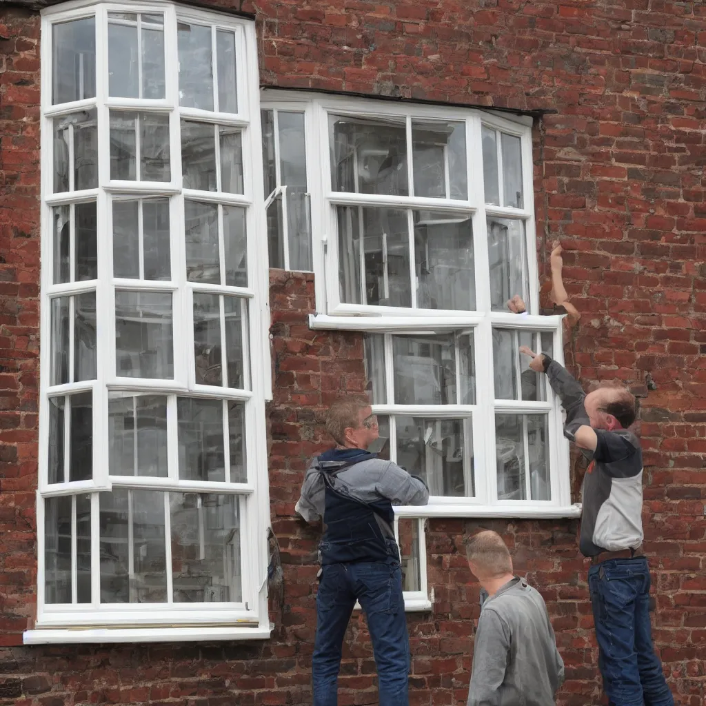
<svg viewBox="0 0 706 706">
<path fill-rule="evenodd" d="M 610 559 L 588 572 L 603 688 L 611 706 L 674 706 L 650 628 L 644 557 Z"/>
</svg>

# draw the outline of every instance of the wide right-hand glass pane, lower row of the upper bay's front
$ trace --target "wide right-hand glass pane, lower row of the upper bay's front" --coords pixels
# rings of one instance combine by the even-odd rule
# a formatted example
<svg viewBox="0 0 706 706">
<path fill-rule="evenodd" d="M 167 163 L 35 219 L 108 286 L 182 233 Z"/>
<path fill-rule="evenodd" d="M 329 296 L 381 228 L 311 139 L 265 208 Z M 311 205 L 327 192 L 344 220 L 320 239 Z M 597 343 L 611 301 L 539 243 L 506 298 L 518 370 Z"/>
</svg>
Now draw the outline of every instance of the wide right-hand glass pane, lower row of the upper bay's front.
<svg viewBox="0 0 706 706">
<path fill-rule="evenodd" d="M 414 211 L 417 306 L 420 309 L 476 308 L 473 229 L 469 215 Z"/>
</svg>

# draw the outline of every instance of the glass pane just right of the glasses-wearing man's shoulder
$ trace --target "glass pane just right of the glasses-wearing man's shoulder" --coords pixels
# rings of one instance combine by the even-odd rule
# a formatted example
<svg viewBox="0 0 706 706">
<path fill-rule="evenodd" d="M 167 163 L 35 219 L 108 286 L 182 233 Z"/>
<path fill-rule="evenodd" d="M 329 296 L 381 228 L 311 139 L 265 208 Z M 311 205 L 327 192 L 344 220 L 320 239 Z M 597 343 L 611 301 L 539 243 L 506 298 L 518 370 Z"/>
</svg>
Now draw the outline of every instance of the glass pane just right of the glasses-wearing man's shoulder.
<svg viewBox="0 0 706 706">
<path fill-rule="evenodd" d="M 473 496 L 470 419 L 395 417 L 395 423 L 397 463 L 424 478 L 430 495 Z"/>
</svg>

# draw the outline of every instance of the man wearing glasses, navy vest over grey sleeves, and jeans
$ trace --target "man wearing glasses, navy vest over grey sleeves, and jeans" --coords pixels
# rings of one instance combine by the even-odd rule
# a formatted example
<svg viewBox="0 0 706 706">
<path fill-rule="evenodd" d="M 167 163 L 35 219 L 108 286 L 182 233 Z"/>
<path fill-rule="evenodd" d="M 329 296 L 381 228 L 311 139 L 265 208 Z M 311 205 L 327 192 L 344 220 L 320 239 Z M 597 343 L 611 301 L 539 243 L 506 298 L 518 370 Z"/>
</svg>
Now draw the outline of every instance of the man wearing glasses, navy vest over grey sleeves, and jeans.
<svg viewBox="0 0 706 706">
<path fill-rule="evenodd" d="M 307 522 L 323 520 L 313 706 L 337 706 L 343 637 L 356 601 L 373 642 L 379 700 L 408 706 L 409 638 L 393 505 L 426 505 L 429 491 L 420 478 L 369 452 L 378 422 L 367 400 L 335 402 L 326 431 L 335 448 L 311 462 L 296 507 Z"/>
</svg>

